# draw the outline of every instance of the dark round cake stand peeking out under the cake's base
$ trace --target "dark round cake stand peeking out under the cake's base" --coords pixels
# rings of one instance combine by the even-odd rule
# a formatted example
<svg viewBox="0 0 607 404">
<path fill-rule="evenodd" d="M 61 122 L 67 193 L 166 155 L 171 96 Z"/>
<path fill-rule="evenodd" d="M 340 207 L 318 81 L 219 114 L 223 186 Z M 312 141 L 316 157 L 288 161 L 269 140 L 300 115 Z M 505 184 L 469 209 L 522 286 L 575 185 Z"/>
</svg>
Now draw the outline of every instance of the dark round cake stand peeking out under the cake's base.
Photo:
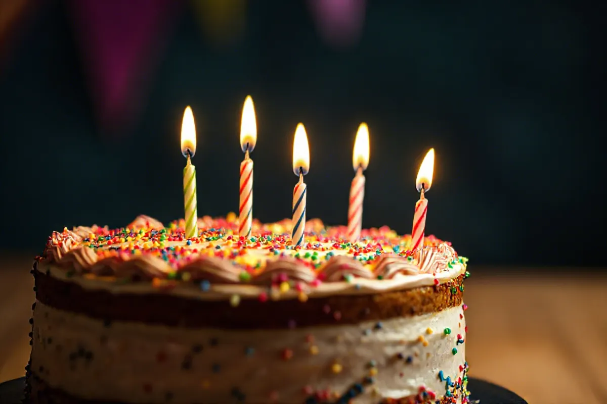
<svg viewBox="0 0 607 404">
<path fill-rule="evenodd" d="M 0 400 L 4 404 L 21 403 L 23 398 L 23 388 L 25 386 L 25 377 L 8 380 L 0 383 Z M 485 382 L 484 380 L 468 379 L 467 388 L 472 392 L 470 400 L 473 402 L 480 400 L 480 404 L 527 404 L 521 397 L 514 392 L 506 390 L 503 387 Z"/>
</svg>

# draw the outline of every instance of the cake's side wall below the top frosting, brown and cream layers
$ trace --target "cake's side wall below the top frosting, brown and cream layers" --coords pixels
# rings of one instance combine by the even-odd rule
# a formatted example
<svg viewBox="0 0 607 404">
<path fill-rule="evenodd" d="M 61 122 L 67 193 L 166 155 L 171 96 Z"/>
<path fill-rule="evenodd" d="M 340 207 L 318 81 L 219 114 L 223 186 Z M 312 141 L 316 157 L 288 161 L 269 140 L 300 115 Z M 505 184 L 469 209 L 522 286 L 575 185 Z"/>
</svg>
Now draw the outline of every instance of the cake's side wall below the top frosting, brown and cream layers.
<svg viewBox="0 0 607 404">
<path fill-rule="evenodd" d="M 72 294 L 75 288 L 49 282 L 51 277 L 37 271 L 35 277 L 30 385 L 44 397 L 55 394 L 63 402 L 69 397 L 71 402 L 330 403 L 353 388 L 354 403 L 405 397 L 461 402 L 466 397 L 463 276 L 439 286 L 339 296 L 316 306 L 315 313 L 308 313 L 313 299 L 266 302 L 264 310 L 253 311 L 245 302 L 233 307 L 226 301 L 205 310 L 212 302 L 200 300 L 167 309 L 176 319 L 210 317 L 206 326 L 159 322 L 154 300 L 161 294 L 132 296 L 149 303 L 149 308 L 138 306 L 139 318 L 114 319 L 111 311 L 106 318 L 89 316 L 92 306 L 79 307 L 84 296 Z M 61 308 L 49 295 L 62 296 Z M 119 308 L 125 302 L 112 299 L 127 296 L 106 293 L 104 305 Z M 427 302 L 444 307 L 422 313 Z M 188 303 L 200 306 L 182 311 Z M 296 303 L 290 306 L 290 322 L 268 323 L 282 316 L 281 303 Z M 223 328 L 213 323 L 216 311 L 225 316 L 242 311 L 258 325 Z M 328 321 L 298 323 L 310 315 Z"/>
</svg>

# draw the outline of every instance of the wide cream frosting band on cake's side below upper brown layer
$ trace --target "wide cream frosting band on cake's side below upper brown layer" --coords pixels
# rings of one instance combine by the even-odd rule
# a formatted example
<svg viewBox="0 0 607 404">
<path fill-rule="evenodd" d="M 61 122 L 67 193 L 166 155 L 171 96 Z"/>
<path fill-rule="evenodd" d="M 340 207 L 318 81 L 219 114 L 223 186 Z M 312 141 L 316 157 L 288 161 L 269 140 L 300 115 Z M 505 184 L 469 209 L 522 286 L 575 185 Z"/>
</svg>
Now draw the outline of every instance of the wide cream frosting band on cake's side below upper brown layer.
<svg viewBox="0 0 607 404">
<path fill-rule="evenodd" d="M 166 402 L 167 394 L 178 403 L 237 402 L 234 389 L 244 395 L 242 402 L 303 403 L 310 389 L 341 395 L 370 372 L 374 382 L 353 403 L 415 395 L 420 386 L 436 392 L 438 399 L 446 391 L 439 371 L 454 381 L 461 376 L 465 344 L 457 343 L 457 334 L 465 338 L 466 326 L 461 306 L 376 325 L 249 331 L 136 322 L 104 326 L 37 302 L 32 369 L 50 386 L 84 399 L 149 403 Z M 202 351 L 194 353 L 197 344 Z M 285 360 L 283 349 L 293 356 Z M 189 361 L 188 369 L 184 361 Z M 339 368 L 336 363 L 339 373 L 333 371 L 340 370 L 333 369 Z"/>
</svg>

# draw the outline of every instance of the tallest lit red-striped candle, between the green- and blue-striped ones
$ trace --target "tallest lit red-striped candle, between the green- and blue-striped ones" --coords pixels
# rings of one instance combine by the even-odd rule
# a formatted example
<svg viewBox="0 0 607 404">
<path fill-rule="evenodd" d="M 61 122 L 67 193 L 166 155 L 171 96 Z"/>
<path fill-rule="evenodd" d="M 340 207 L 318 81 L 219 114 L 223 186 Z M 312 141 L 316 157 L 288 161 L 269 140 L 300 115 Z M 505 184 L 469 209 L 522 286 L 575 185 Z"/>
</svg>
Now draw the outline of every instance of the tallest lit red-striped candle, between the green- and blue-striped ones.
<svg viewBox="0 0 607 404">
<path fill-rule="evenodd" d="M 240 204 L 238 228 L 239 236 L 251 236 L 251 223 L 253 222 L 253 160 L 249 152 L 255 148 L 257 142 L 257 122 L 253 98 L 246 96 L 242 107 L 242 120 L 240 121 L 240 147 L 245 153 L 245 159 L 240 163 Z"/>
</svg>

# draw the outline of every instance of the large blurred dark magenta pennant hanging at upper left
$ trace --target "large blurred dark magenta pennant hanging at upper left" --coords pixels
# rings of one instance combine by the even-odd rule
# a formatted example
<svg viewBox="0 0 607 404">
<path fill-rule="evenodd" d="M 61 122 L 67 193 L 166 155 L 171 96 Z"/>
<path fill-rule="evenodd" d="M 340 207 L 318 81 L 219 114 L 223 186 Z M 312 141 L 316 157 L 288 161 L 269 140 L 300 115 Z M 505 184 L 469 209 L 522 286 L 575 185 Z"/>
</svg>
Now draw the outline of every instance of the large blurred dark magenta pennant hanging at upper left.
<svg viewBox="0 0 607 404">
<path fill-rule="evenodd" d="M 173 0 L 71 0 L 76 41 L 101 128 L 117 133 L 135 122 L 146 85 L 163 55 Z"/>
</svg>

